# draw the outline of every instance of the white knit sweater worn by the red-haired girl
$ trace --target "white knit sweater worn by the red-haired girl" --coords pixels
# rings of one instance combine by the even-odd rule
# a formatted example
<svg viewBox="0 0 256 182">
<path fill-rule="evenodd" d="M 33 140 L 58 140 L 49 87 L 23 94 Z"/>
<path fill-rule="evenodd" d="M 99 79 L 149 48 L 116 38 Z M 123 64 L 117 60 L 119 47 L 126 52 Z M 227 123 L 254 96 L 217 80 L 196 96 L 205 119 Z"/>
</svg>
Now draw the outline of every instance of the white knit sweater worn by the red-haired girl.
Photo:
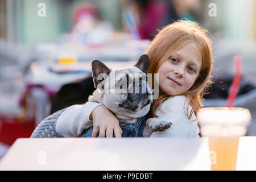
<svg viewBox="0 0 256 182">
<path fill-rule="evenodd" d="M 85 105 L 73 105 L 68 107 L 60 115 L 56 123 L 56 131 L 63 137 L 79 137 L 84 129 L 93 126 L 89 115 L 98 105 L 97 102 L 86 102 Z M 159 110 L 159 107 L 163 113 Z M 196 116 L 192 114 L 191 119 L 187 117 L 192 107 L 188 105 L 185 96 L 175 96 L 164 101 L 155 114 L 158 119 L 172 122 L 170 129 L 152 133 L 151 137 L 199 137 L 199 127 L 197 126 Z"/>
</svg>

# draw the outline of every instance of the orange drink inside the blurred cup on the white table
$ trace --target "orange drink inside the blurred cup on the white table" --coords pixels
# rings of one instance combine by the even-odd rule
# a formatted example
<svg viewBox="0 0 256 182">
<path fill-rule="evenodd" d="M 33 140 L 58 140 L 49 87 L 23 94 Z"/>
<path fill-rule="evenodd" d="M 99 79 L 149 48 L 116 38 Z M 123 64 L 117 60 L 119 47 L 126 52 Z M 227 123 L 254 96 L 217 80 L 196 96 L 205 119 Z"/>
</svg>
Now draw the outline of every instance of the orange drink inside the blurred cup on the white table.
<svg viewBox="0 0 256 182">
<path fill-rule="evenodd" d="M 234 171 L 237 164 L 239 137 L 208 137 L 212 152 L 212 171 Z"/>
</svg>

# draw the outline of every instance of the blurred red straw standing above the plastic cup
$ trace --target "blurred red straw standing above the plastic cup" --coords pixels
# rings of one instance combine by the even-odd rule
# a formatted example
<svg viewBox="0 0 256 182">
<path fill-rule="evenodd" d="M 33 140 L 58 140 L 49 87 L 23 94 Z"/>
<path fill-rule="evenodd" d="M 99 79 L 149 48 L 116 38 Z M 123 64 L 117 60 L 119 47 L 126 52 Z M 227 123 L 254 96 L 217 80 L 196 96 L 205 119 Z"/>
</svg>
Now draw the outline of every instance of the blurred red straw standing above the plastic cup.
<svg viewBox="0 0 256 182">
<path fill-rule="evenodd" d="M 241 84 L 241 73 L 242 73 L 242 59 L 240 55 L 234 56 L 234 67 L 235 75 L 232 81 L 231 88 L 229 90 L 228 99 L 226 101 L 226 107 L 233 107 L 234 101 L 236 100 L 238 90 Z"/>
</svg>

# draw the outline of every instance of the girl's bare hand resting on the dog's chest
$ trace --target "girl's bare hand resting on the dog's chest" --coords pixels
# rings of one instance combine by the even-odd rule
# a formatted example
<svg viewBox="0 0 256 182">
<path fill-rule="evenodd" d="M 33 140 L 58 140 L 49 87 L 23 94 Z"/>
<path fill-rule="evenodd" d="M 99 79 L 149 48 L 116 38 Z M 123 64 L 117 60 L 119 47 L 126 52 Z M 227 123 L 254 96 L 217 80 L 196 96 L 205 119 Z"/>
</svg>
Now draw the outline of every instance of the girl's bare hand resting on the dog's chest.
<svg viewBox="0 0 256 182">
<path fill-rule="evenodd" d="M 92 137 L 113 137 L 121 138 L 122 129 L 119 126 L 119 121 L 115 115 L 104 105 L 97 106 L 89 117 L 90 120 L 93 120 L 93 132 Z"/>
</svg>

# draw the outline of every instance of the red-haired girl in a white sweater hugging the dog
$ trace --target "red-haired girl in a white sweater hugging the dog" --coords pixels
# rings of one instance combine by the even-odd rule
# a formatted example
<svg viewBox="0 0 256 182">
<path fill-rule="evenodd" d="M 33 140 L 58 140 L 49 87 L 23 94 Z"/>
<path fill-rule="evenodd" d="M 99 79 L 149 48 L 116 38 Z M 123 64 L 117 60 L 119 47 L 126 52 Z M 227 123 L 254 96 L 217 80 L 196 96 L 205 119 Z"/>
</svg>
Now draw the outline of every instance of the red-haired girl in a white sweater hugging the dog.
<svg viewBox="0 0 256 182">
<path fill-rule="evenodd" d="M 145 118 L 172 122 L 170 129 L 154 132 L 151 137 L 199 137 L 196 113 L 201 108 L 212 71 L 211 42 L 207 33 L 197 23 L 179 20 L 164 27 L 146 51 L 150 57 L 147 73 L 152 73 L 150 86 L 159 86 L 159 97 Z M 154 73 L 159 76 L 156 83 Z M 138 119 L 135 132 L 142 131 L 144 121 Z M 92 126 L 92 137 L 98 134 L 99 137 L 122 136 L 117 118 L 96 102 L 69 107 L 57 120 L 56 131 L 63 137 L 79 137 Z"/>
</svg>

